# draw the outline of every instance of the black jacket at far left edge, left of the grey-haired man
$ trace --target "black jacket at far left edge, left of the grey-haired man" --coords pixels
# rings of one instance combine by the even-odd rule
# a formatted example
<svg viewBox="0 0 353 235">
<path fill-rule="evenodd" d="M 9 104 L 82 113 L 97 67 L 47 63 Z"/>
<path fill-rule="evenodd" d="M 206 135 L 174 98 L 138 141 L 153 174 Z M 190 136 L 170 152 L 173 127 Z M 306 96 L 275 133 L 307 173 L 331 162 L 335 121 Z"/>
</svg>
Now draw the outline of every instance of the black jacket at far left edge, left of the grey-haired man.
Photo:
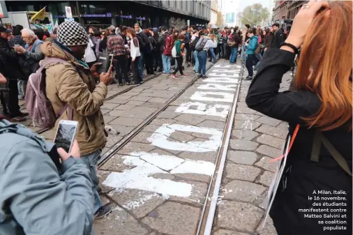
<svg viewBox="0 0 353 235">
<path fill-rule="evenodd" d="M 20 56 L 10 47 L 6 38 L 0 37 L 0 54 L 4 64 L 4 75 L 9 79 L 25 79 L 22 68 L 18 63 Z"/>
</svg>

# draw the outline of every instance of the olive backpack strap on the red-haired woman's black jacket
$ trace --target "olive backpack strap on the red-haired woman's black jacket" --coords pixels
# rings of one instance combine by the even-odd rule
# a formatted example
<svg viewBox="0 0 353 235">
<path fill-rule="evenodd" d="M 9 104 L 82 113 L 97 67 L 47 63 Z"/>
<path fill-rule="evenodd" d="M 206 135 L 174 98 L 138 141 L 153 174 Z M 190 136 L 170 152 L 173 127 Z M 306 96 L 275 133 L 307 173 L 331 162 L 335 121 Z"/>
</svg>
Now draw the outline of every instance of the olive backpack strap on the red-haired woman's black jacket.
<svg viewBox="0 0 353 235">
<path fill-rule="evenodd" d="M 350 171 L 350 167 L 343 158 L 343 156 L 337 151 L 337 149 L 329 142 L 329 139 L 327 139 L 320 130 L 316 130 L 315 136 L 314 136 L 314 142 L 313 142 L 313 149 L 311 149 L 311 156 L 310 160 L 314 162 L 318 162 L 320 158 L 320 149 L 321 149 L 321 143 L 324 144 L 325 148 L 331 153 L 331 156 L 336 160 L 338 165 L 347 172 L 350 176 L 352 176 L 352 172 Z"/>
</svg>

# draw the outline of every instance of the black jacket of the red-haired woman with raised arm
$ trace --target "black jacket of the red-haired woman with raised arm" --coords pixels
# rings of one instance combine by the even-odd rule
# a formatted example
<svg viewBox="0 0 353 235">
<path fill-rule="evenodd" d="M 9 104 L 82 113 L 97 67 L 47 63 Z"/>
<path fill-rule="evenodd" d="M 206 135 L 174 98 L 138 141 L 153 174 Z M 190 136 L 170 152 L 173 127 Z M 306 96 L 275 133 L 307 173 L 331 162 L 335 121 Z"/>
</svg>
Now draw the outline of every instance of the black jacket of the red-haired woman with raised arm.
<svg viewBox="0 0 353 235">
<path fill-rule="evenodd" d="M 262 57 L 257 75 L 250 85 L 246 104 L 262 114 L 274 119 L 287 121 L 290 124 L 290 135 L 294 132 L 296 124 L 300 124 L 292 149 L 287 157 L 287 165 L 283 179 L 287 186 L 280 183 L 276 198 L 270 211 L 273 224 L 278 235 L 351 235 L 352 234 L 352 176 L 347 174 L 333 159 L 329 151 L 322 145 L 320 160 L 310 160 L 313 149 L 313 139 L 316 129 L 309 128 L 302 117 L 313 116 L 320 109 L 320 98 L 311 91 L 285 91 L 278 92 L 283 75 L 290 70 L 294 61 L 294 54 L 280 49 L 266 50 Z M 351 120 L 352 122 L 352 120 Z M 329 142 L 345 158 L 352 172 L 352 131 L 347 128 L 336 128 L 322 132 Z M 276 157 L 276 156 L 271 156 Z M 347 230 L 323 231 L 319 221 L 324 218 L 304 218 L 299 209 L 321 208 L 328 206 L 313 206 L 313 202 L 338 202 L 337 200 L 310 201 L 308 197 L 323 196 L 313 195 L 314 190 L 345 190 L 347 195 L 344 202 L 347 206 L 333 206 L 331 208 L 347 209 Z M 317 192 L 317 191 L 316 191 Z M 338 195 L 326 195 L 336 197 Z M 308 213 L 313 214 L 313 213 Z M 330 214 L 330 213 L 326 213 Z M 334 213 L 331 213 L 334 214 Z M 343 214 L 343 213 L 340 213 Z M 342 225 L 339 225 L 342 226 Z"/>
</svg>

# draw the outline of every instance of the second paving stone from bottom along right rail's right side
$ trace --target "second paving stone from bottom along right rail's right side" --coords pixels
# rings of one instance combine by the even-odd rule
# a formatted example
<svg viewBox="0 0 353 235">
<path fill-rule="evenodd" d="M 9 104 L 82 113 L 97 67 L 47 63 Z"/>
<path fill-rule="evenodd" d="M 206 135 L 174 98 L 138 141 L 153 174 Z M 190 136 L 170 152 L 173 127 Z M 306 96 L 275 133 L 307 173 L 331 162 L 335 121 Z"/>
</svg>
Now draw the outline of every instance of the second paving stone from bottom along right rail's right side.
<svg viewBox="0 0 353 235">
<path fill-rule="evenodd" d="M 248 181 L 230 181 L 224 186 L 223 199 L 240 202 L 254 202 L 257 197 L 262 195 L 266 188 L 256 183 Z"/>
</svg>

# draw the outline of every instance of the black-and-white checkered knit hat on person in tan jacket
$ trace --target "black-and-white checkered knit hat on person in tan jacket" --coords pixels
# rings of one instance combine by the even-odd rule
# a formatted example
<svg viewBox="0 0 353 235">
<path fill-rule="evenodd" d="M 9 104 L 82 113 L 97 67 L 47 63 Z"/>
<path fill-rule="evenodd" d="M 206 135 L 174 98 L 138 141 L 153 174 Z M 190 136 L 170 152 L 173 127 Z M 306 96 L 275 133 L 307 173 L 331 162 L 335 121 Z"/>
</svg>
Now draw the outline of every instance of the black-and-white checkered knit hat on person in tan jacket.
<svg viewBox="0 0 353 235">
<path fill-rule="evenodd" d="M 75 21 L 66 21 L 59 25 L 57 40 L 66 46 L 88 44 L 88 34 L 84 28 Z"/>
</svg>

